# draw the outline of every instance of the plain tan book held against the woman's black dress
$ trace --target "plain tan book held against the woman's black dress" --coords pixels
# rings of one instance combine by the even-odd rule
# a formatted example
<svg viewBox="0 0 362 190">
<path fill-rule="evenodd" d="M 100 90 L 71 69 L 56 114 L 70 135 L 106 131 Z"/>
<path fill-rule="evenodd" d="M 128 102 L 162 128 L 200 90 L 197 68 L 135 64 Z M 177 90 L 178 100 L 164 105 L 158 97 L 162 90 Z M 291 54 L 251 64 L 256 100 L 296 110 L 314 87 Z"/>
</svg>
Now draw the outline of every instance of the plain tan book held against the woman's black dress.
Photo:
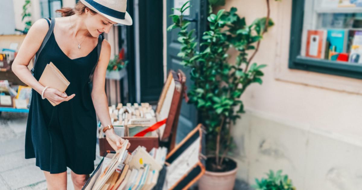
<svg viewBox="0 0 362 190">
<path fill-rule="evenodd" d="M 45 69 L 40 76 L 39 83 L 43 86 L 49 86 L 50 88 L 55 88 L 60 92 L 65 92 L 68 88 L 70 82 L 64 77 L 62 72 L 59 71 L 55 65 L 50 62 L 45 66 Z M 56 106 L 56 104 L 48 100 L 51 105 Z"/>
</svg>

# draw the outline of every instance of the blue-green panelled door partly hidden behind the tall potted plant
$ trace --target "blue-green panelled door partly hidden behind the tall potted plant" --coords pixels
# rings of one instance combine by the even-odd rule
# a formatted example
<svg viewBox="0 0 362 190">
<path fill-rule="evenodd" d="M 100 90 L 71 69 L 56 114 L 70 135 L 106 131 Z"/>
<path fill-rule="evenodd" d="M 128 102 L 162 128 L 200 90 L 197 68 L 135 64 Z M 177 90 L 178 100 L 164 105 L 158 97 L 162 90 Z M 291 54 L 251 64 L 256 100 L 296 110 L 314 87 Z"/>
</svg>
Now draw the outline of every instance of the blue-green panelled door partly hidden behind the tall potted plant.
<svg viewBox="0 0 362 190">
<path fill-rule="evenodd" d="M 178 2 L 183 4 L 185 0 L 167 0 L 167 26 L 171 25 L 173 22 L 168 15 L 174 14 L 172 7 L 174 3 Z M 206 30 L 206 20 L 207 20 L 207 0 L 191 0 L 190 1 L 190 10 L 189 15 L 185 16 L 187 19 L 192 20 L 190 24 L 190 29 L 196 29 L 197 40 L 201 39 L 201 34 Z M 180 64 L 181 60 L 177 57 L 178 52 L 180 52 L 180 42 L 177 41 L 177 32 L 178 30 L 172 30 L 167 32 L 167 71 L 173 69 L 181 69 L 186 74 L 186 85 L 190 88 L 193 82 L 190 80 L 190 70 L 184 68 Z M 168 73 L 168 72 L 167 72 Z M 182 101 L 180 118 L 178 120 L 177 127 L 177 136 L 176 143 L 180 142 L 196 125 L 197 125 L 197 110 L 192 104 L 187 104 L 185 100 Z"/>
</svg>

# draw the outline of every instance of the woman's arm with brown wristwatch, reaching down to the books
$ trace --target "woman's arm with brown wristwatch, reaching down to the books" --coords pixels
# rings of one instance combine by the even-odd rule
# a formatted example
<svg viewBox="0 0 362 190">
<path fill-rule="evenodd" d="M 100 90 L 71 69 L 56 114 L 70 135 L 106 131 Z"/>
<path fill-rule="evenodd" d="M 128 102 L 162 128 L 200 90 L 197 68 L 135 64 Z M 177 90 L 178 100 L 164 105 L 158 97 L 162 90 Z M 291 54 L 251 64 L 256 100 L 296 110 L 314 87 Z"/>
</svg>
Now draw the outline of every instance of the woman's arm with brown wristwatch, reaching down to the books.
<svg viewBox="0 0 362 190">
<path fill-rule="evenodd" d="M 92 86 L 92 101 L 96 114 L 101 121 L 103 126 L 107 126 L 111 123 L 109 110 L 108 110 L 108 101 L 105 92 L 105 79 L 106 79 L 106 70 L 108 67 L 110 59 L 111 47 L 109 42 L 104 39 L 102 42 L 101 53 L 99 56 L 98 64 L 93 73 L 93 86 Z M 111 147 L 115 150 L 122 147 L 124 139 L 119 137 L 114 133 L 113 128 L 105 132 L 106 139 L 108 140 Z M 127 145 L 129 148 L 130 144 Z"/>
</svg>

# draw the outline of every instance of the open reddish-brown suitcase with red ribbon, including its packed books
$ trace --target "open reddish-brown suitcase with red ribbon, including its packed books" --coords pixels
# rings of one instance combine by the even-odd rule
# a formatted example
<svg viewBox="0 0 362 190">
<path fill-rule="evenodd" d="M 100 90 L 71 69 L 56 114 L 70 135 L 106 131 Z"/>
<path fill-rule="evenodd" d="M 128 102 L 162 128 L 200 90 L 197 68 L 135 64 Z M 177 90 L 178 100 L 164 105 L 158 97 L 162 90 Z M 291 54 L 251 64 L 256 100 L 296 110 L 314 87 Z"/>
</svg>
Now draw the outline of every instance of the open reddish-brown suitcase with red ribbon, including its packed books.
<svg viewBox="0 0 362 190">
<path fill-rule="evenodd" d="M 185 74 L 181 70 L 178 72 L 171 70 L 163 86 L 156 110 L 153 110 L 148 103 L 141 105 L 127 103 L 109 107 L 114 130 L 119 136 L 129 140 L 130 151 L 138 145 L 151 151 L 153 147 L 159 146 L 160 141 L 168 142 L 166 146 L 169 149 L 174 147 L 185 81 Z M 98 123 L 98 126 L 100 155 L 104 156 L 107 151 L 114 151 L 114 149 L 105 139 L 102 125 Z"/>
</svg>

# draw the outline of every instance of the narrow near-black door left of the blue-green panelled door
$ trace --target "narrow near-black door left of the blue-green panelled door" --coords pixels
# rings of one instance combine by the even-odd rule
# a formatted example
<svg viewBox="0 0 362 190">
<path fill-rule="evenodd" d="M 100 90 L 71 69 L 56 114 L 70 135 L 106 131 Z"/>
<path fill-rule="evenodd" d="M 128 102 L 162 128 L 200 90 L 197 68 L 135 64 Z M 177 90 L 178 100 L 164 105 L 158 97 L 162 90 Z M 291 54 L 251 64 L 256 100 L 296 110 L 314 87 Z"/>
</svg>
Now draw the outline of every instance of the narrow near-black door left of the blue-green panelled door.
<svg viewBox="0 0 362 190">
<path fill-rule="evenodd" d="M 141 102 L 157 102 L 163 87 L 162 3 L 138 1 Z"/>
</svg>

